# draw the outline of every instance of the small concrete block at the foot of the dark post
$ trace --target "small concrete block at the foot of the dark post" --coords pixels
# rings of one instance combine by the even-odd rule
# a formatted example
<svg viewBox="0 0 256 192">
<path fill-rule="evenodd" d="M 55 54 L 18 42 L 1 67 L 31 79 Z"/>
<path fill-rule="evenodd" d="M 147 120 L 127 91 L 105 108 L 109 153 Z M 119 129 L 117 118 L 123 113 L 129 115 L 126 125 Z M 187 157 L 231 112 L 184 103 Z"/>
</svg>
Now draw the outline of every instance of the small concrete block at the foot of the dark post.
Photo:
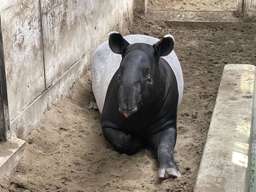
<svg viewBox="0 0 256 192">
<path fill-rule="evenodd" d="M 12 172 L 24 154 L 25 147 L 26 142 L 15 137 L 0 143 L 0 177 Z"/>
</svg>

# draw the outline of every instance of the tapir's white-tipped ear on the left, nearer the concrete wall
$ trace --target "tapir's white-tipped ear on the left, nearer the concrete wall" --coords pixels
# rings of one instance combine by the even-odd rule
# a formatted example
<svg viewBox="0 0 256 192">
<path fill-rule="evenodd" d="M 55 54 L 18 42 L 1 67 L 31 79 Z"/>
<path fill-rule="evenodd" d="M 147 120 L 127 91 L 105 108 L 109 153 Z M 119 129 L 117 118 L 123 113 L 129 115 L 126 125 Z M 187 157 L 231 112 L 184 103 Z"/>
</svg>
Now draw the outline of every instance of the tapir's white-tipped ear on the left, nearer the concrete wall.
<svg viewBox="0 0 256 192">
<path fill-rule="evenodd" d="M 111 32 L 109 34 L 108 44 L 110 49 L 116 54 L 123 54 L 125 47 L 129 45 L 119 32 Z"/>
</svg>

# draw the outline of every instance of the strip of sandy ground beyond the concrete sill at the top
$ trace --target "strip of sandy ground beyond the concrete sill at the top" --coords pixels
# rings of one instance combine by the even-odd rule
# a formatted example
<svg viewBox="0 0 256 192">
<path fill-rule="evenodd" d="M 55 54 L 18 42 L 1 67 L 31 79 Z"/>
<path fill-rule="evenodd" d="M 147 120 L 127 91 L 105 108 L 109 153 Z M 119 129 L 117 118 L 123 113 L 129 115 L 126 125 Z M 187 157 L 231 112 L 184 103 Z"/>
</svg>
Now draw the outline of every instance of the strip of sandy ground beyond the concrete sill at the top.
<svg viewBox="0 0 256 192">
<path fill-rule="evenodd" d="M 148 0 L 149 9 L 235 11 L 236 0 Z"/>
</svg>

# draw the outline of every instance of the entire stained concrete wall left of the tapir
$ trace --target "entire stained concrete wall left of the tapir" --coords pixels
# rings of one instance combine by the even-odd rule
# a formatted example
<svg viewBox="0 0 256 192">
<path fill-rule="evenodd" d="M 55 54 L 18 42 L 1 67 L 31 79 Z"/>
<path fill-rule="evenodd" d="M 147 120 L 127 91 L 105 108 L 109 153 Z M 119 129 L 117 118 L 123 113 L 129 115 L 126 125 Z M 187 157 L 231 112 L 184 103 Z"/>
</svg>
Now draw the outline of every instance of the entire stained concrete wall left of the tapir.
<svg viewBox="0 0 256 192">
<path fill-rule="evenodd" d="M 11 134 L 29 133 L 67 95 L 132 9 L 133 0 L 0 0 Z"/>
</svg>

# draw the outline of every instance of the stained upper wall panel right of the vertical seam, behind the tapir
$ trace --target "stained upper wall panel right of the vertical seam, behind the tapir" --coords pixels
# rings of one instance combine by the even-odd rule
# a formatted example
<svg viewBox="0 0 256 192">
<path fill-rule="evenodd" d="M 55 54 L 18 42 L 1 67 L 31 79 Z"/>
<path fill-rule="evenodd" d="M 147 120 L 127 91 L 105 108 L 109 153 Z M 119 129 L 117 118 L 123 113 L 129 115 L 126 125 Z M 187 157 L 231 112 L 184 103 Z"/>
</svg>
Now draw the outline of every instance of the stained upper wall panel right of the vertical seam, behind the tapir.
<svg viewBox="0 0 256 192">
<path fill-rule="evenodd" d="M 42 14 L 46 87 L 87 53 L 132 7 L 132 1 L 121 0 L 66 0 L 49 4 L 52 9 Z"/>
</svg>

